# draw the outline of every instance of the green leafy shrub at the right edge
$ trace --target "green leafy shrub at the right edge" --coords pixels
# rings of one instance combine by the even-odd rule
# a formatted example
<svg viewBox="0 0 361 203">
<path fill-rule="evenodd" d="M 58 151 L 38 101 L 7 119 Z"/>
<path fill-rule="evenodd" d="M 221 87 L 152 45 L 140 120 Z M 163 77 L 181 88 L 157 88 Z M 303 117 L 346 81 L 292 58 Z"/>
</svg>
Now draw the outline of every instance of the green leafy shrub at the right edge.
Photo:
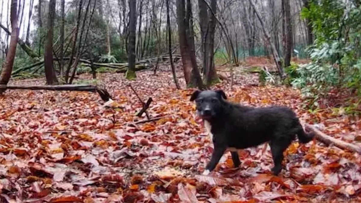
<svg viewBox="0 0 361 203">
<path fill-rule="evenodd" d="M 291 84 L 313 107 L 331 88 L 351 88 L 360 94 L 361 9 L 340 0 L 321 0 L 311 2 L 301 16 L 310 21 L 316 39 L 307 50 L 312 62 L 286 70 L 294 78 Z"/>
</svg>

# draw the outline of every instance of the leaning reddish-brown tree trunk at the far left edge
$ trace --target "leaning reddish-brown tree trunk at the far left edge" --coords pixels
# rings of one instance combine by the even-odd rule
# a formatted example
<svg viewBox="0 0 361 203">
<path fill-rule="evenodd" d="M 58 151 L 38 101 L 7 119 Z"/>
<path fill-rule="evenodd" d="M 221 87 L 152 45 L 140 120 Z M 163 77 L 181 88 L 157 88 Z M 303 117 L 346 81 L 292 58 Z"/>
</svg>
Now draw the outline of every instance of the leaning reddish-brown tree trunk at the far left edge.
<svg viewBox="0 0 361 203">
<path fill-rule="evenodd" d="M 10 7 L 11 38 L 10 38 L 9 49 L 6 54 L 6 59 L 1 69 L 0 85 L 8 84 L 8 82 L 10 81 L 11 72 L 13 70 L 16 47 L 18 44 L 17 41 L 19 37 L 17 7 L 18 7 L 17 0 L 11 0 L 11 7 Z M 2 94 L 4 91 L 5 91 L 4 89 L 1 89 L 0 94 Z"/>
</svg>

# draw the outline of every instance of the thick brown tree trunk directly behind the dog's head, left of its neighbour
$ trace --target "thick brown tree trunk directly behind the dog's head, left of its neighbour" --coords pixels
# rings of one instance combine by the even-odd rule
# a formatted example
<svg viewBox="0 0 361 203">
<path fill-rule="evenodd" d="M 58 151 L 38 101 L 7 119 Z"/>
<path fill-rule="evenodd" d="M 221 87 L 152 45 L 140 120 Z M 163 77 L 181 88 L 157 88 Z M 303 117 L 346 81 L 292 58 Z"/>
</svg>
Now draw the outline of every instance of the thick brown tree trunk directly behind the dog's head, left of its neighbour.
<svg viewBox="0 0 361 203">
<path fill-rule="evenodd" d="M 202 80 L 197 69 L 195 55 L 192 56 L 190 43 L 191 39 L 187 39 L 187 29 L 189 30 L 189 19 L 186 18 L 185 1 L 177 0 L 177 22 L 178 22 L 178 38 L 179 47 L 181 49 L 183 72 L 188 87 L 202 88 Z"/>
</svg>

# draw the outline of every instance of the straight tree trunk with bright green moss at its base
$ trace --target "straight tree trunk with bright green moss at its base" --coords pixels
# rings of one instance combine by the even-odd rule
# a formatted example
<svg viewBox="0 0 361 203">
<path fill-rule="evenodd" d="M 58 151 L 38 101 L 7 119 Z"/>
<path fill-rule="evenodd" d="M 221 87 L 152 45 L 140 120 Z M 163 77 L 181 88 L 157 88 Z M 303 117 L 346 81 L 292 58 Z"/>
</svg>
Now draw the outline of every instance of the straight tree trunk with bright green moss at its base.
<svg viewBox="0 0 361 203">
<path fill-rule="evenodd" d="M 129 43 L 127 79 L 135 79 L 135 30 L 136 30 L 136 1 L 129 1 Z"/>
</svg>

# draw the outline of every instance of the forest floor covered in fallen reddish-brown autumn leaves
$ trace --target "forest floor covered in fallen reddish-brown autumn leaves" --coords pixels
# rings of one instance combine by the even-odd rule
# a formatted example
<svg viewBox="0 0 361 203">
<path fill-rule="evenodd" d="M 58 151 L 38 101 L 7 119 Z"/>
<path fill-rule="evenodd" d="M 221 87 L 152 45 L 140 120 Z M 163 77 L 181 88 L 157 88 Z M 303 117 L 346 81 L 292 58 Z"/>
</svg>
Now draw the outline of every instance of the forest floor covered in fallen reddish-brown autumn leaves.
<svg viewBox="0 0 361 203">
<path fill-rule="evenodd" d="M 360 146 L 360 119 L 332 108 L 310 112 L 299 91 L 257 86 L 257 74 L 238 69 L 232 89 L 227 81 L 213 88 L 245 105 L 286 105 L 301 121 Z M 239 169 L 232 168 L 228 153 L 209 176 L 200 175 L 213 145 L 189 101 L 193 90 L 184 88 L 180 64 L 177 70 L 182 90 L 175 88 L 168 66 L 157 75 L 138 72 L 135 81 L 98 74 L 121 108 L 104 108 L 92 92 L 6 91 L 0 97 L 1 202 L 361 201 L 360 155 L 316 140 L 293 142 L 278 177 L 270 172 L 268 144 L 240 151 Z M 11 83 L 42 85 L 45 80 Z M 150 117 L 164 118 L 135 124 L 147 118 L 135 116 L 142 104 L 127 84 L 143 101 L 152 97 Z"/>
</svg>

